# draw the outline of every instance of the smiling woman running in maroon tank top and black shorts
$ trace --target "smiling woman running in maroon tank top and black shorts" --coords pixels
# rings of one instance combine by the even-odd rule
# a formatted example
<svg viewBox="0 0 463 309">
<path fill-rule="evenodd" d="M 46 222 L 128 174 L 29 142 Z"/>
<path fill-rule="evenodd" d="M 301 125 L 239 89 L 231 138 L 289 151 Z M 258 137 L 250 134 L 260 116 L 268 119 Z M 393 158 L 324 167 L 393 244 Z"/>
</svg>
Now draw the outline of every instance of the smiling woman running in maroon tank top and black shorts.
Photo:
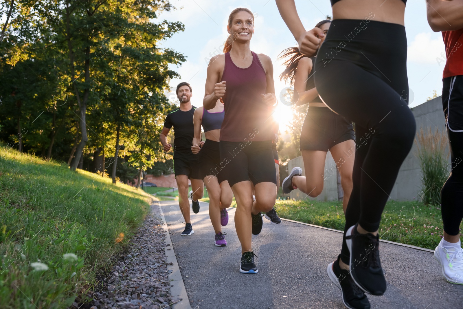
<svg viewBox="0 0 463 309">
<path fill-rule="evenodd" d="M 237 8 L 228 18 L 224 55 L 213 57 L 207 67 L 207 110 L 221 97 L 225 117 L 220 129 L 220 167 L 232 187 L 237 202 L 235 227 L 241 242 L 242 273 L 256 273 L 251 232 L 262 229 L 261 211 L 273 209 L 276 172 L 272 151 L 273 123 L 267 121 L 275 111 L 273 65 L 270 57 L 250 50 L 254 16 Z M 256 201 L 252 200 L 252 185 Z"/>
</svg>

